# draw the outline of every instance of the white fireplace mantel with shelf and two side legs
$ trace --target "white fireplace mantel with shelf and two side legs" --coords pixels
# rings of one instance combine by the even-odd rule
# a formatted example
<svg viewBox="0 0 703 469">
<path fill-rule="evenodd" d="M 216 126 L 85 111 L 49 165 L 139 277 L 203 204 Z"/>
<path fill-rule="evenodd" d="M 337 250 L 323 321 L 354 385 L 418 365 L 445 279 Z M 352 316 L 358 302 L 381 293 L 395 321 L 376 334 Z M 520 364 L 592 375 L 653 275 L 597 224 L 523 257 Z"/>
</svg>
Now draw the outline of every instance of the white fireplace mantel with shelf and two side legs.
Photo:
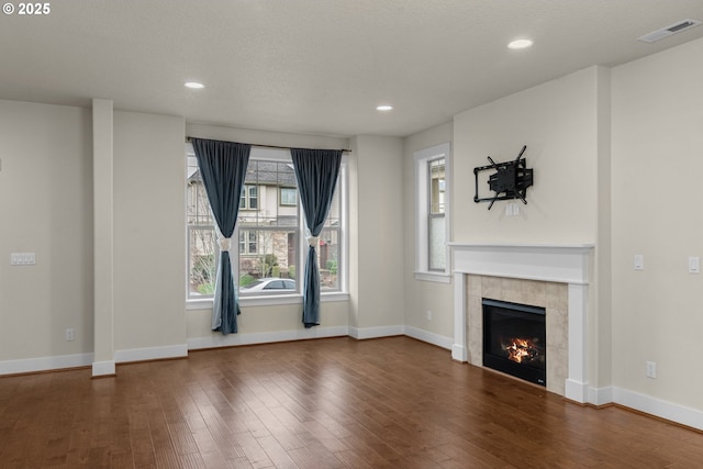
<svg viewBox="0 0 703 469">
<path fill-rule="evenodd" d="M 454 346 L 451 357 L 468 361 L 466 275 L 568 284 L 569 377 L 565 397 L 588 402 L 587 316 L 593 244 L 449 243 L 454 265 Z"/>
</svg>

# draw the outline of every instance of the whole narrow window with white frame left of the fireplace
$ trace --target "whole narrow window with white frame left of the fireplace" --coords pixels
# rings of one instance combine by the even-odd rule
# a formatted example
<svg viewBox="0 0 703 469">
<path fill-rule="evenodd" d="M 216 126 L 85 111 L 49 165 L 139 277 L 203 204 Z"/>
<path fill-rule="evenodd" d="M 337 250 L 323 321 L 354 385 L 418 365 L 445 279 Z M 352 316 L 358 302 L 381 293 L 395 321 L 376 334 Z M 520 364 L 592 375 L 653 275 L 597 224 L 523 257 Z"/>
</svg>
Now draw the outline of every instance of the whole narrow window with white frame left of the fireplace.
<svg viewBox="0 0 703 469">
<path fill-rule="evenodd" d="M 449 144 L 415 153 L 415 278 L 449 281 Z"/>
</svg>

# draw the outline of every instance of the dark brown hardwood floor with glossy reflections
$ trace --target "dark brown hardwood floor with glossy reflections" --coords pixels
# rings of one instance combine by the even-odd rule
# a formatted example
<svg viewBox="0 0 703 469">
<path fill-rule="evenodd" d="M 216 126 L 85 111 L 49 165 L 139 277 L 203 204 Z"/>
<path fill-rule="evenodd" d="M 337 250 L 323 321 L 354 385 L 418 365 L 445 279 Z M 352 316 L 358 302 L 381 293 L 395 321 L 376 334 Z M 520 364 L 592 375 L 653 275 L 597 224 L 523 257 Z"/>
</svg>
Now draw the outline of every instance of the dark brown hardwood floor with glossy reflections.
<svg viewBox="0 0 703 469">
<path fill-rule="evenodd" d="M 0 378 L 2 468 L 694 468 L 703 434 L 408 337 Z"/>
</svg>

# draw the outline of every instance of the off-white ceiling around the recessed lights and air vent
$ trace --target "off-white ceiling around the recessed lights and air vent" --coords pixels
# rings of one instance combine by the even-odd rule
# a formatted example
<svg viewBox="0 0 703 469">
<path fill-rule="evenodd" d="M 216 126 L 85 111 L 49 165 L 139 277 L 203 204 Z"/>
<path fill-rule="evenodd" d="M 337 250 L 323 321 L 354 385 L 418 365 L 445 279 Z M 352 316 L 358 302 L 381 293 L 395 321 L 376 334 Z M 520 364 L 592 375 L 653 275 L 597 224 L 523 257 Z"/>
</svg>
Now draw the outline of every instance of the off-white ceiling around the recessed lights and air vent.
<svg viewBox="0 0 703 469">
<path fill-rule="evenodd" d="M 0 99 L 88 107 L 107 98 L 188 122 L 337 136 L 405 136 L 571 71 L 703 36 L 701 25 L 636 41 L 703 20 L 702 0 L 49 4 L 46 15 L 0 15 Z M 535 45 L 507 49 L 516 37 Z M 188 80 L 205 88 L 186 89 Z M 395 109 L 379 113 L 381 103 Z"/>
</svg>

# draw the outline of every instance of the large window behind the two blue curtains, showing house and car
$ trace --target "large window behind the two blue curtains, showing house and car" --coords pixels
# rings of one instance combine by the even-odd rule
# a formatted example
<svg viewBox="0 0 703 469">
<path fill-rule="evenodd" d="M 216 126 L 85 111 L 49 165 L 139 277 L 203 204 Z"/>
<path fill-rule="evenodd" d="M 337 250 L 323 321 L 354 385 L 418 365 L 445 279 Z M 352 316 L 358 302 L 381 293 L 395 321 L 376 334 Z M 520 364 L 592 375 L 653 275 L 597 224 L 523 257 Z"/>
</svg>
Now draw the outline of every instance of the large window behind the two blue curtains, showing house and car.
<svg viewBox="0 0 703 469">
<path fill-rule="evenodd" d="M 214 293 L 220 253 L 214 220 L 190 144 L 187 153 L 188 299 L 209 299 Z M 344 271 L 344 194 L 346 164 L 337 182 L 327 220 L 320 235 L 321 291 L 342 292 Z M 300 293 L 295 282 L 304 270 L 306 242 L 298 203 L 298 181 L 290 152 L 254 147 L 239 200 L 237 230 L 230 255 L 236 270 L 241 298 Z"/>
</svg>

